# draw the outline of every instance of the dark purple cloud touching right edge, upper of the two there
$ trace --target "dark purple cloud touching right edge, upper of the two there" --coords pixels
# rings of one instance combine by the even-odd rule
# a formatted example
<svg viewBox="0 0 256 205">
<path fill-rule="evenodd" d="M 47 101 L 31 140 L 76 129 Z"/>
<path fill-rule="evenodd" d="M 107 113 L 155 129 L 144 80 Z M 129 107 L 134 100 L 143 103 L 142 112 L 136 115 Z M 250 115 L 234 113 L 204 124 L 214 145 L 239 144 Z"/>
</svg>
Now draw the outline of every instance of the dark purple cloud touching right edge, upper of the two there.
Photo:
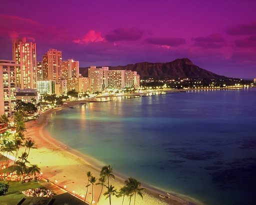
<svg viewBox="0 0 256 205">
<path fill-rule="evenodd" d="M 250 24 L 240 24 L 226 28 L 229 35 L 253 35 L 256 33 L 256 21 Z"/>
</svg>

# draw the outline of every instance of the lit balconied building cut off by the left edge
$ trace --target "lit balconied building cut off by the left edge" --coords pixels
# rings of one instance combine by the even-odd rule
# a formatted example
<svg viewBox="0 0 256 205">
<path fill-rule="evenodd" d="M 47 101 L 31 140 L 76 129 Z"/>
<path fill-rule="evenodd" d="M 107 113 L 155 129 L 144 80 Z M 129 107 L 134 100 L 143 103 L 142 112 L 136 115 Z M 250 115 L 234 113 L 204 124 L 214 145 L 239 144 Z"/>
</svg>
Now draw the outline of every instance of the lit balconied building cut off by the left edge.
<svg viewBox="0 0 256 205">
<path fill-rule="evenodd" d="M 15 108 L 16 69 L 14 60 L 0 60 L 0 114 L 11 116 Z"/>
</svg>

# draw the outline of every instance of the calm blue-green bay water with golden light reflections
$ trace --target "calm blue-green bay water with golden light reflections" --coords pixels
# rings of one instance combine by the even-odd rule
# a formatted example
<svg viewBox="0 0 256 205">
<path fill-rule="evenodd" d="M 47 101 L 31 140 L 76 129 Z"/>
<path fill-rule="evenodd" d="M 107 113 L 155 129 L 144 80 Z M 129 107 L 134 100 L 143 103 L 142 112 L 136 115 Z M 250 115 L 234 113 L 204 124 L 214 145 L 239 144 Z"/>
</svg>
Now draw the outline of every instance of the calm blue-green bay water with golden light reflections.
<svg viewBox="0 0 256 205">
<path fill-rule="evenodd" d="M 166 192 L 204 204 L 254 204 L 255 104 L 255 87 L 120 97 L 58 111 L 48 131 Z"/>
</svg>

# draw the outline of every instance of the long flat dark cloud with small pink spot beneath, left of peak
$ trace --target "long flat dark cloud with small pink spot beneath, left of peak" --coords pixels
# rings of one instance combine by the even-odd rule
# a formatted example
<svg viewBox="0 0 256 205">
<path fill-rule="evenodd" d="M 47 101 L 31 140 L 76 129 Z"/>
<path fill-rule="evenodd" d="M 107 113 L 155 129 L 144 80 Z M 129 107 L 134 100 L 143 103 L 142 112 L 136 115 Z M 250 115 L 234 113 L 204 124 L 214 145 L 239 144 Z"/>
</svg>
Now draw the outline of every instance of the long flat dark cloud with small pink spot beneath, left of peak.
<svg viewBox="0 0 256 205">
<path fill-rule="evenodd" d="M 149 37 L 145 39 L 145 42 L 169 48 L 170 46 L 176 47 L 184 44 L 185 39 L 180 37 Z"/>
</svg>

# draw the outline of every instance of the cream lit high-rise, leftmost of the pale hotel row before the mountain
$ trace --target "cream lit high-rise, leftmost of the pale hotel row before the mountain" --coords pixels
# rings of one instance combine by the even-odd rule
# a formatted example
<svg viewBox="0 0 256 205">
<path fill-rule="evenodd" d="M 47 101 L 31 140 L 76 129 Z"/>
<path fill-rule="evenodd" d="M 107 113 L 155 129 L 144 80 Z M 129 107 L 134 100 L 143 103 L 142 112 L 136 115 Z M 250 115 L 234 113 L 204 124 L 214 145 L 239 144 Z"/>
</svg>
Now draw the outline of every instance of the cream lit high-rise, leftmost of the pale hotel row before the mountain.
<svg viewBox="0 0 256 205">
<path fill-rule="evenodd" d="M 90 92 L 101 92 L 103 84 L 102 68 L 96 66 L 90 66 L 88 68 L 89 78 L 89 91 Z"/>
</svg>

